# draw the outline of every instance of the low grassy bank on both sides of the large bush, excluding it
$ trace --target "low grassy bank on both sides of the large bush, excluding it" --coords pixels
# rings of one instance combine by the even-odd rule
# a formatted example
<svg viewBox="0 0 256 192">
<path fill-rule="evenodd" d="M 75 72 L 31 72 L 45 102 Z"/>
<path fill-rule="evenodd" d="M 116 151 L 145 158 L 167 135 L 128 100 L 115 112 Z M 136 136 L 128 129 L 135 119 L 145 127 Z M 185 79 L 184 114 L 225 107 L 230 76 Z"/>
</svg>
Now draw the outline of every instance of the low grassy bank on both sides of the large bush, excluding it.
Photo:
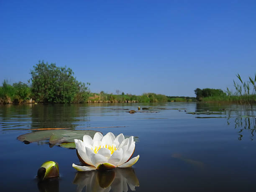
<svg viewBox="0 0 256 192">
<path fill-rule="evenodd" d="M 105 92 L 76 94 L 72 102 L 69 103 L 130 103 L 130 102 L 190 102 L 195 101 L 195 97 L 170 97 L 155 93 L 143 93 L 142 95 L 131 95 L 131 94 L 107 94 Z M 19 82 L 13 85 L 8 84 L 4 81 L 3 85 L 0 86 L 0 104 L 20 104 L 20 103 L 51 103 L 51 102 L 40 102 L 33 89 L 25 83 Z M 52 102 L 54 103 L 54 102 Z M 62 103 L 62 102 L 59 102 Z"/>
</svg>

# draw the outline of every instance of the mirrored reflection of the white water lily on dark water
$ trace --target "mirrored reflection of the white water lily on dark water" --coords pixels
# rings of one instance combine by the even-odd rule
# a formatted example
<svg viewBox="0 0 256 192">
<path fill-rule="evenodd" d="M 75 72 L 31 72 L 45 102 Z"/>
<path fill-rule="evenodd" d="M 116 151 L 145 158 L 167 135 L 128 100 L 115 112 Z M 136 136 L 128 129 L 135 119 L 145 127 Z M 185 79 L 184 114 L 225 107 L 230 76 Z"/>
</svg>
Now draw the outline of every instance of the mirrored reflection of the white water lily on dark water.
<svg viewBox="0 0 256 192">
<path fill-rule="evenodd" d="M 139 186 L 138 178 L 133 168 L 113 169 L 108 172 L 77 172 L 73 184 L 77 184 L 77 192 L 126 192 L 128 185 L 132 191 Z"/>
</svg>

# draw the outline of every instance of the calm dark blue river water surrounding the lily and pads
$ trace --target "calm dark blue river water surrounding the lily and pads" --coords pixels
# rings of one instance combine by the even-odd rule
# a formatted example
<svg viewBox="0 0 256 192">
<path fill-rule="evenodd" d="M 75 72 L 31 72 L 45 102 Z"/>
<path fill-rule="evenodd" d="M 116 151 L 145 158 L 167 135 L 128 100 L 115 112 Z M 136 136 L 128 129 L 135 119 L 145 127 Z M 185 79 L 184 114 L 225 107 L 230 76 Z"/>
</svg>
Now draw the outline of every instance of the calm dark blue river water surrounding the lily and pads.
<svg viewBox="0 0 256 192">
<path fill-rule="evenodd" d="M 134 114 L 125 110 L 138 105 L 151 108 Z M 0 191 L 255 191 L 254 113 L 255 105 L 201 103 L 1 105 Z M 92 128 L 111 126 L 125 127 Z M 138 136 L 133 156 L 140 159 L 131 169 L 77 172 L 75 150 L 17 140 L 31 132 L 17 129 L 31 128 Z M 61 177 L 38 183 L 37 170 L 47 160 L 59 163 Z M 110 186 L 101 178 L 108 178 Z"/>
</svg>

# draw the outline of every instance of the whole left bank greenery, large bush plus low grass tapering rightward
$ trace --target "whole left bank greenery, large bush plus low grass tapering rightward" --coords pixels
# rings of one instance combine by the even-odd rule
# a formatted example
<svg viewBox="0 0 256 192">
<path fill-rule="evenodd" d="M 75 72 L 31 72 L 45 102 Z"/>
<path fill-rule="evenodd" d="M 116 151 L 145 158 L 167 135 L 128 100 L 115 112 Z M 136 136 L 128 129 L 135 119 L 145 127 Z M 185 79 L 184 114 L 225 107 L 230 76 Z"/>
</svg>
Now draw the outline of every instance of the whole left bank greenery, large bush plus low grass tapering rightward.
<svg viewBox="0 0 256 192">
<path fill-rule="evenodd" d="M 85 102 L 187 102 L 195 97 L 169 97 L 155 93 L 142 95 L 91 93 L 90 83 L 78 82 L 72 69 L 39 61 L 30 72 L 28 84 L 9 84 L 4 80 L 0 86 L 0 104 L 5 103 L 85 103 Z"/>
</svg>

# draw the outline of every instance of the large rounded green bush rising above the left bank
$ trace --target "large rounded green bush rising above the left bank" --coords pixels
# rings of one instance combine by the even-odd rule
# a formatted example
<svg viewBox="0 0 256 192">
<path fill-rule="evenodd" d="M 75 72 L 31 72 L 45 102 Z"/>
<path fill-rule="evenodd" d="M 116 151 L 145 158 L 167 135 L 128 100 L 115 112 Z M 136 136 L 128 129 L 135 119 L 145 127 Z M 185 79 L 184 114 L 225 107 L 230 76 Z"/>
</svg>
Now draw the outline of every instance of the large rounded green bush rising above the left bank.
<svg viewBox="0 0 256 192">
<path fill-rule="evenodd" d="M 72 69 L 39 61 L 31 70 L 32 93 L 37 102 L 71 103 L 77 94 L 86 92 L 84 83 L 78 82 Z"/>
</svg>

